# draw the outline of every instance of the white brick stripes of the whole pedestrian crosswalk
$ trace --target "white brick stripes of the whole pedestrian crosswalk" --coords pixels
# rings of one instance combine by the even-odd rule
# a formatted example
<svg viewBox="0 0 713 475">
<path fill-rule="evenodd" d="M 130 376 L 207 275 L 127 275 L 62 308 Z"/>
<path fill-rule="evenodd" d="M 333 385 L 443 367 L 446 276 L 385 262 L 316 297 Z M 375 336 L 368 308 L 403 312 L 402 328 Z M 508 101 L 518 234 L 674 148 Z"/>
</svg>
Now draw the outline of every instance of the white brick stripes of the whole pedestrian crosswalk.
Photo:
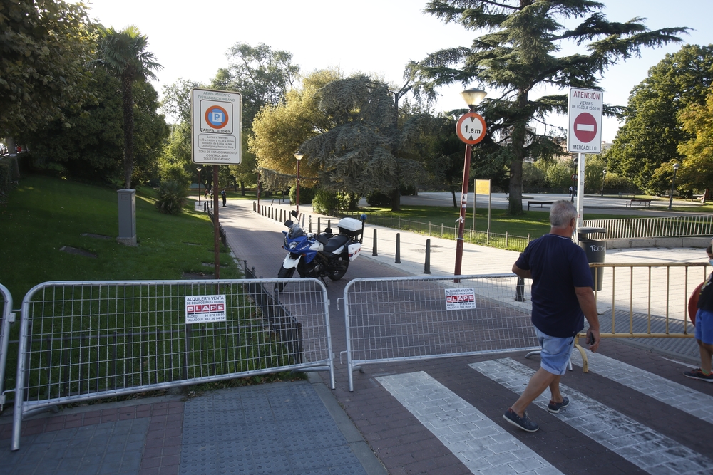
<svg viewBox="0 0 713 475">
<path fill-rule="evenodd" d="M 604 355 L 588 356 L 590 372 L 713 423 L 713 397 Z M 530 367 L 511 358 L 475 362 L 469 366 L 513 392 L 512 400 L 503 402 L 503 411 L 523 392 L 534 374 Z M 523 444 L 518 431 L 503 429 L 426 372 L 387 375 L 376 380 L 473 474 L 491 471 L 562 473 Z M 572 387 L 560 387 L 563 395 L 569 397 L 570 405 L 553 417 L 643 471 L 652 475 L 713 474 L 713 459 L 708 454 L 699 454 L 647 427 L 645 420 L 632 419 Z M 545 391 L 534 404 L 546 409 L 548 400 L 549 391 Z"/>
</svg>

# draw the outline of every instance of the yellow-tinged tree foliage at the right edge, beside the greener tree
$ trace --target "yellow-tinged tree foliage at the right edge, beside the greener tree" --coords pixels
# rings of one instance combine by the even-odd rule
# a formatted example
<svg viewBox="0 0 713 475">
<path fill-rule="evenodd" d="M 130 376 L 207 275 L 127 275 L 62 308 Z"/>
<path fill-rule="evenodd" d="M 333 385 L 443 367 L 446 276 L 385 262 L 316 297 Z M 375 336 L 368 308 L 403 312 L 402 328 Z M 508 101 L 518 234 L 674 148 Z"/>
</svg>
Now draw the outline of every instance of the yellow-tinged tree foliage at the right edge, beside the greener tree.
<svg viewBox="0 0 713 475">
<path fill-rule="evenodd" d="M 689 104 L 679 115 L 691 138 L 678 146 L 683 163 L 677 179 L 683 189 L 713 191 L 713 88 L 704 105 Z"/>
</svg>

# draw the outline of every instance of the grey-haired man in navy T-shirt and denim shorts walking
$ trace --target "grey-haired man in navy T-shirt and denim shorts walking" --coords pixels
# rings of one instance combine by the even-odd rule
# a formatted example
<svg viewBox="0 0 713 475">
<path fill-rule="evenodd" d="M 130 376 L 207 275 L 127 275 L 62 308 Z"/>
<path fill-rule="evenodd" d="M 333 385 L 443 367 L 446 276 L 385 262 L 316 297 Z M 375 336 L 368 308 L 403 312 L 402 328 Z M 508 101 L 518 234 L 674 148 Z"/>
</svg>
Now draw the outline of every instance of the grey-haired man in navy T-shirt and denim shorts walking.
<svg viewBox="0 0 713 475">
<path fill-rule="evenodd" d="M 548 411 L 558 413 L 570 403 L 560 393 L 560 378 L 567 370 L 575 337 L 587 318 L 587 343 L 599 348 L 599 317 L 587 256 L 573 243 L 577 209 L 568 201 L 550 208 L 550 232 L 530 242 L 513 265 L 513 272 L 533 280 L 532 323 L 540 342 L 540 368 L 503 419 L 528 432 L 540 427 L 528 417 L 527 407 L 548 387 Z"/>
</svg>

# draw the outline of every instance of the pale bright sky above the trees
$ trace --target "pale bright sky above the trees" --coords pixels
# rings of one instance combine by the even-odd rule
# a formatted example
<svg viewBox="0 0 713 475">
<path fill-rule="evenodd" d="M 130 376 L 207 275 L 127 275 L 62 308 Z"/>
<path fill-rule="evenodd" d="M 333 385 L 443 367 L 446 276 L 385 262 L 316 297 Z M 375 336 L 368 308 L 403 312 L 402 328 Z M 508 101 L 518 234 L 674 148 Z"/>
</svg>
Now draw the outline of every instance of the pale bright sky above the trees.
<svg viewBox="0 0 713 475">
<path fill-rule="evenodd" d="M 666 53 L 675 53 L 685 43 L 713 43 L 711 0 L 602 3 L 610 21 L 642 17 L 652 30 L 693 28 L 682 36 L 683 43 L 647 48 L 640 58 L 607 70 L 600 81 L 607 104 L 626 105 L 632 88 Z M 374 74 L 387 83 L 402 85 L 409 61 L 420 61 L 443 48 L 468 46 L 482 34 L 468 32 L 457 24 L 443 24 L 424 14 L 425 0 L 89 0 L 88 5 L 90 16 L 104 26 L 124 28 L 135 24 L 148 36 L 148 50 L 163 65 L 155 83 L 159 93 L 164 85 L 178 78 L 210 83 L 219 68 L 227 67 L 225 53 L 235 43 L 265 43 L 273 50 L 288 51 L 303 74 L 340 68 L 347 75 Z M 461 84 L 441 88 L 436 111 L 465 108 L 459 95 L 463 88 Z M 483 88 L 488 90 L 487 85 Z M 566 93 L 535 90 L 531 98 L 557 92 Z M 550 117 L 548 122 L 567 126 L 564 115 Z M 602 140 L 613 140 L 618 127 L 617 120 L 604 118 Z M 543 127 L 539 126 L 538 131 L 542 132 Z"/>
</svg>

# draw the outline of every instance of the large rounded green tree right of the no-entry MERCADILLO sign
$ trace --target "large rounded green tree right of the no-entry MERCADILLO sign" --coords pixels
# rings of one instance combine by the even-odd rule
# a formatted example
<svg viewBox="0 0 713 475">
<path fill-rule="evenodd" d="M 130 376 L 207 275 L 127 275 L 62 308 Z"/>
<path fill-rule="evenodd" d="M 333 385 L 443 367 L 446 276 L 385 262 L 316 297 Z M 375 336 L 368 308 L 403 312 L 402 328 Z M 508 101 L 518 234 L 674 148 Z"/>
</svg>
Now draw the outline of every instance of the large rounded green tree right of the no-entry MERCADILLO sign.
<svg viewBox="0 0 713 475">
<path fill-rule="evenodd" d="M 684 152 L 679 145 L 695 136 L 695 130 L 681 127 L 679 114 L 704 105 L 712 84 L 713 45 L 686 45 L 650 68 L 632 90 L 626 122 L 607 153 L 610 169 L 647 192 L 667 190 L 671 177 L 666 170 L 655 176 L 657 168 L 680 162 Z"/>
</svg>

